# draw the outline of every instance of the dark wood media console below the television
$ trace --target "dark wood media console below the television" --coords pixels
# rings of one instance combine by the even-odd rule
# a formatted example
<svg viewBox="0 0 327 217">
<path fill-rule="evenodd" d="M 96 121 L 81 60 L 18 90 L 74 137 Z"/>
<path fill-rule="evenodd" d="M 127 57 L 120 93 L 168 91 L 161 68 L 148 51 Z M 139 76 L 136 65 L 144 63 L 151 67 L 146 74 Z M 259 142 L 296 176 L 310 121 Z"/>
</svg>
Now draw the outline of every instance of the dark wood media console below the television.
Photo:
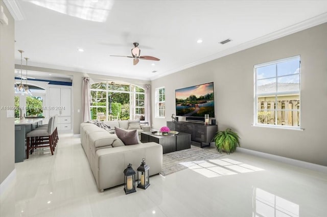
<svg viewBox="0 0 327 217">
<path fill-rule="evenodd" d="M 167 126 L 171 130 L 186 132 L 191 134 L 191 140 L 199 142 L 201 148 L 209 147 L 210 142 L 218 131 L 217 125 L 204 125 L 204 123 L 194 123 L 188 121 L 167 121 Z M 203 143 L 205 145 L 203 145 Z"/>
</svg>

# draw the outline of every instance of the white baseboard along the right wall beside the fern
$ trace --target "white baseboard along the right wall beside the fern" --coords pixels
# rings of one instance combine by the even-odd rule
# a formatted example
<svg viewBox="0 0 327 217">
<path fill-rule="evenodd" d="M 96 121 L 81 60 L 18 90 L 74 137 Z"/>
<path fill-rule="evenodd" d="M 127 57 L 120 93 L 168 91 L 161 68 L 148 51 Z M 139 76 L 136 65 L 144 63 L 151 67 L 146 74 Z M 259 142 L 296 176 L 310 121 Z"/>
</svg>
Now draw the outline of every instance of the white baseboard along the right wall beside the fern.
<svg viewBox="0 0 327 217">
<path fill-rule="evenodd" d="M 322 165 L 318 165 L 318 164 L 312 164 L 311 162 L 296 160 L 296 159 L 292 159 L 292 158 L 288 158 L 288 157 L 282 157 L 282 156 L 278 156 L 278 155 L 274 155 L 274 154 L 268 154 L 268 153 L 264 153 L 264 152 L 260 152 L 260 151 L 253 151 L 253 150 L 250 150 L 250 149 L 240 148 L 240 147 L 237 148 L 237 151 L 245 153 L 245 154 L 251 154 L 251 155 L 255 155 L 255 156 L 259 156 L 259 157 L 263 157 L 263 158 L 283 162 L 285 164 L 293 165 L 293 166 L 296 166 L 296 167 L 302 167 L 302 168 L 306 168 L 306 169 L 309 169 L 309 170 L 314 170 L 314 171 L 317 171 L 317 172 L 327 174 L 327 167 L 322 166 Z"/>
</svg>

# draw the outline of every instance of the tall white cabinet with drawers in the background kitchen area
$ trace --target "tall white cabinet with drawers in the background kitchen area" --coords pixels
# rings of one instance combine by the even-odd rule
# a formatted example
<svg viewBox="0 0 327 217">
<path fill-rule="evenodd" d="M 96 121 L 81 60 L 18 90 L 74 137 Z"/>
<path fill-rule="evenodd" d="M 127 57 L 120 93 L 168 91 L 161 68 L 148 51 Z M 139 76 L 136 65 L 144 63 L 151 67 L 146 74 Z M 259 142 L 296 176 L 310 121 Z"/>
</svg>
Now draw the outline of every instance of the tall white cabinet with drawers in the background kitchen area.
<svg viewBox="0 0 327 217">
<path fill-rule="evenodd" d="M 72 88 L 49 87 L 49 115 L 58 115 L 58 130 L 72 129 Z"/>
</svg>

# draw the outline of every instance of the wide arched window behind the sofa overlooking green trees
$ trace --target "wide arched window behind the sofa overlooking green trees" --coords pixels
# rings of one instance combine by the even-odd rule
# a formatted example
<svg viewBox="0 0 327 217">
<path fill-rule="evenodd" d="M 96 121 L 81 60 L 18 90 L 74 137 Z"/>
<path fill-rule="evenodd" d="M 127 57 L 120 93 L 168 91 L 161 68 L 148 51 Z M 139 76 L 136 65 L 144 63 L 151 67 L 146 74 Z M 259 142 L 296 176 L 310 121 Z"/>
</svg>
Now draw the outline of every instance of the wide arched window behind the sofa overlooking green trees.
<svg viewBox="0 0 327 217">
<path fill-rule="evenodd" d="M 129 120 L 145 115 L 144 88 L 122 82 L 90 85 L 91 119 Z"/>
</svg>

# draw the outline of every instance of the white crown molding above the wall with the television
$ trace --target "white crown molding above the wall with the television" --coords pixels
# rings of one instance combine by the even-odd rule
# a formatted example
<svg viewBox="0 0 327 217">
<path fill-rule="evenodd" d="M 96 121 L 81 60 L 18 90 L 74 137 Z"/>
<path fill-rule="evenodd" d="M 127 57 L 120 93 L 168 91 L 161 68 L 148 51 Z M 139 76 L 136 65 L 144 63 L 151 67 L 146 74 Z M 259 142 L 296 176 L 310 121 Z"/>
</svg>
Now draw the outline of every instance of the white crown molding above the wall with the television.
<svg viewBox="0 0 327 217">
<path fill-rule="evenodd" d="M 284 36 L 291 35 L 293 33 L 300 32 L 302 30 L 309 29 L 309 28 L 311 28 L 313 26 L 316 26 L 316 25 L 319 25 L 319 24 L 322 24 L 322 23 L 325 23 L 325 22 L 327 22 L 327 13 L 320 14 L 318 16 L 312 17 L 312 18 L 307 19 L 305 21 L 302 21 L 302 22 L 296 23 L 294 25 L 288 26 L 287 28 L 275 31 L 273 33 L 270 33 L 268 35 L 256 38 L 256 39 L 248 41 L 248 42 L 245 42 L 245 43 L 237 45 L 235 47 L 228 48 L 226 50 L 220 51 L 218 53 L 215 53 L 214 55 L 202 58 L 202 59 L 200 59 L 198 61 L 195 61 L 195 62 L 192 62 L 190 64 L 186 64 L 184 66 L 181 66 L 181 67 L 166 71 L 164 73 L 153 76 L 150 79 L 155 80 L 157 78 L 164 77 L 166 75 L 169 75 L 169 74 L 172 74 L 172 73 L 184 70 L 184 69 L 188 69 L 188 68 L 191 68 L 193 66 L 200 65 L 202 63 L 206 63 L 206 62 L 209 62 L 209 61 L 212 61 L 212 60 L 216 60 L 218 58 L 230 55 L 232 53 L 236 53 L 236 52 L 241 51 L 241 50 L 245 50 L 245 49 L 250 48 L 250 47 L 254 47 L 256 45 L 260 45 L 260 44 L 263 44 L 263 43 L 266 43 L 266 42 L 269 42 L 269 41 L 272 41 L 272 40 L 275 40 L 275 39 L 278 39 L 278 38 L 282 38 Z"/>
</svg>

